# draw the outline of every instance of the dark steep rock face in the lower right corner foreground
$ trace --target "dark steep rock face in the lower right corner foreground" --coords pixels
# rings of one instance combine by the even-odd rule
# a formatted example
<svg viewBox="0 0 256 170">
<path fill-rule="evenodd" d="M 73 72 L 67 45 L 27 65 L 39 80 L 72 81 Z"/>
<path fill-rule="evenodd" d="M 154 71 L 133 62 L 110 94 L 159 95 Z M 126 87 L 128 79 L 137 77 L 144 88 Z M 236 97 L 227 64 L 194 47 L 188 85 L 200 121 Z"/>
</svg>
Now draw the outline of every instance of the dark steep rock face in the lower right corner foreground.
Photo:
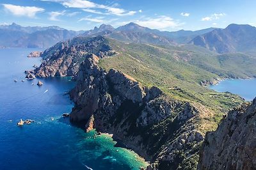
<svg viewBox="0 0 256 170">
<path fill-rule="evenodd" d="M 199 169 L 256 169 L 256 98 L 228 113 L 215 132 L 207 133 Z"/>
</svg>

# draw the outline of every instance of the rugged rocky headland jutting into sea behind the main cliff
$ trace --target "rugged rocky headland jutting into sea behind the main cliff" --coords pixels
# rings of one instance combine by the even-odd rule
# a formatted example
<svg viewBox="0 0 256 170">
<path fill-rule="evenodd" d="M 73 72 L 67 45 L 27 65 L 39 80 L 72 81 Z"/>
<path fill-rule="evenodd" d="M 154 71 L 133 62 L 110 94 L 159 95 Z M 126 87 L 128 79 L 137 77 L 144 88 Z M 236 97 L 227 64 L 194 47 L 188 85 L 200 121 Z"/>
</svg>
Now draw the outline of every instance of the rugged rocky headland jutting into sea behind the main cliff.
<svg viewBox="0 0 256 170">
<path fill-rule="evenodd" d="M 41 55 L 44 60 L 35 69 L 35 75 L 38 77 L 74 76 L 88 54 L 96 54 L 103 58 L 115 54 L 115 51 L 111 50 L 107 40 L 102 36 L 76 37 L 45 50 Z"/>
</svg>

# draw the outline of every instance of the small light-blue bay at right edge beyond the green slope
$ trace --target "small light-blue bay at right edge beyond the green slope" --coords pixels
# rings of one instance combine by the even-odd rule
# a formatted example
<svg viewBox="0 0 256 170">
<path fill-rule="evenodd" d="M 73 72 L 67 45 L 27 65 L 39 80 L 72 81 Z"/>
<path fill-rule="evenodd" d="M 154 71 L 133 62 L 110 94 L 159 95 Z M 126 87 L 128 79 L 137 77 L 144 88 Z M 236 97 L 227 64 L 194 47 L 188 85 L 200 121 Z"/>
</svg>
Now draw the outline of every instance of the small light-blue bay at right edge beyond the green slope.
<svg viewBox="0 0 256 170">
<path fill-rule="evenodd" d="M 228 91 L 251 101 L 256 97 L 255 87 L 256 79 L 227 79 L 209 88 L 219 92 Z"/>
</svg>

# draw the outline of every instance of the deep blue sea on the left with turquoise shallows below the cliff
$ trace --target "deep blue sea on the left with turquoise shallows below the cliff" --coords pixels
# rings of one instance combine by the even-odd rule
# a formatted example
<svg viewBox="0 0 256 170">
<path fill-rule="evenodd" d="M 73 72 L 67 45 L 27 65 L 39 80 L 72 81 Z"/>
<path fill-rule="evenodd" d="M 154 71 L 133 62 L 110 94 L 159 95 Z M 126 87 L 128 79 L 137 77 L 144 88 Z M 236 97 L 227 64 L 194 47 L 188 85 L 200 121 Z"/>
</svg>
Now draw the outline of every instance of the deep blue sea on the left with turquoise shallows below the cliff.
<svg viewBox="0 0 256 170">
<path fill-rule="evenodd" d="M 41 79 L 41 87 L 31 85 L 38 79 L 21 82 L 24 70 L 40 65 L 40 58 L 26 57 L 32 50 L 0 49 L 0 169 L 125 170 L 145 165 L 132 151 L 114 147 L 107 135 L 93 139 L 95 132 L 86 134 L 61 118 L 72 110 L 64 94 L 75 82 L 60 77 Z M 17 127 L 20 118 L 35 123 Z"/>
</svg>

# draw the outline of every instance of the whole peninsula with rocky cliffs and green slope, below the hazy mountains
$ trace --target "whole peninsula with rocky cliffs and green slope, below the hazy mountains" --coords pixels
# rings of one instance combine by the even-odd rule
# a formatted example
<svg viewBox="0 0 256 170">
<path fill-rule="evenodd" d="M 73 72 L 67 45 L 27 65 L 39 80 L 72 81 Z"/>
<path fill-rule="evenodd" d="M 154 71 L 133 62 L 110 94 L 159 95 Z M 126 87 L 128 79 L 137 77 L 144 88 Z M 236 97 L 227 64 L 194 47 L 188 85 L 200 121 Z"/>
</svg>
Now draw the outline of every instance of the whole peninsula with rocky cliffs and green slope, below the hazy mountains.
<svg viewBox="0 0 256 170">
<path fill-rule="evenodd" d="M 196 169 L 205 133 L 244 102 L 205 88 L 253 77 L 256 59 L 194 45 L 157 46 L 77 36 L 42 54 L 38 77 L 74 76 L 70 121 L 113 134 L 150 162 L 148 169 Z M 234 69 L 239 67 L 239 69 Z"/>
</svg>

